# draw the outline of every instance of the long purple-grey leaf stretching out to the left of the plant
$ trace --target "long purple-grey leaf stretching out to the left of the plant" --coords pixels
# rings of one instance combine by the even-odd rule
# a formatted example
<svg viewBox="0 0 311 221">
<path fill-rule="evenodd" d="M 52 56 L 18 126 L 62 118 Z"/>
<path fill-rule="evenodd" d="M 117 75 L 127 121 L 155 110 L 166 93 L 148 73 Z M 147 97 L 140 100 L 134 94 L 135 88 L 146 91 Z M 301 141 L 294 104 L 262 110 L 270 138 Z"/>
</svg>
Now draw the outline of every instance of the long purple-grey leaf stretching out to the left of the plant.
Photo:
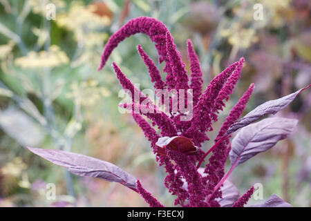
<svg viewBox="0 0 311 221">
<path fill-rule="evenodd" d="M 67 151 L 27 148 L 32 153 L 53 162 L 53 164 L 66 167 L 68 171 L 75 175 L 82 177 L 97 177 L 109 182 L 118 182 L 136 191 L 135 177 L 122 171 L 120 167 L 109 162 Z"/>
</svg>

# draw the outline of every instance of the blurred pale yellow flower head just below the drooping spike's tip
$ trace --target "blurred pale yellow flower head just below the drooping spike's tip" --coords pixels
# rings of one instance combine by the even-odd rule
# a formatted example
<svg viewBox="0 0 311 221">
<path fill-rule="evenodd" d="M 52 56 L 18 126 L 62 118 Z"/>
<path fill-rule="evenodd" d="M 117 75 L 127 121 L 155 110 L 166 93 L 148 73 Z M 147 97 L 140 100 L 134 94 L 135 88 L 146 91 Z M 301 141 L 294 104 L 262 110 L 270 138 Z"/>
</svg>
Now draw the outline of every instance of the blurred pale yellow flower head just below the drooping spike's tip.
<svg viewBox="0 0 311 221">
<path fill-rule="evenodd" d="M 71 92 L 67 93 L 67 97 L 73 99 L 77 105 L 93 106 L 102 97 L 107 97 L 110 92 L 103 86 L 98 86 L 98 82 L 90 79 L 80 84 L 73 83 L 70 86 Z"/>
</svg>

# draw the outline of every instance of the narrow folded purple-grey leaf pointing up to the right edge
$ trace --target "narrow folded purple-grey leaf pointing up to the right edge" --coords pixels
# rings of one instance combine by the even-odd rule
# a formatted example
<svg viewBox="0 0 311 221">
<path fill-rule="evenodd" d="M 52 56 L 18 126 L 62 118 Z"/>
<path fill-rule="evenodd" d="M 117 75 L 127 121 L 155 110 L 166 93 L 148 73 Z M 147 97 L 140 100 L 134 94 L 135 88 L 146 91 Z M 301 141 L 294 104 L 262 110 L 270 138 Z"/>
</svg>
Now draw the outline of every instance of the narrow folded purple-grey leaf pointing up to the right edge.
<svg viewBox="0 0 311 221">
<path fill-rule="evenodd" d="M 300 90 L 297 90 L 295 93 L 292 93 L 285 97 L 274 99 L 257 106 L 253 111 L 245 115 L 245 117 L 242 117 L 241 119 L 238 120 L 238 122 L 232 124 L 232 126 L 229 127 L 225 135 L 234 133 L 234 131 L 237 131 L 239 128 L 242 128 L 244 126 L 247 126 L 248 124 L 251 124 L 252 122 L 255 122 L 263 115 L 266 114 L 274 115 L 278 111 L 283 110 L 286 106 L 288 106 L 288 104 L 290 104 L 290 102 L 292 102 L 295 99 L 297 95 L 299 95 L 299 93 L 301 93 L 301 91 L 309 88 L 310 86 L 311 85 L 305 88 L 301 88 Z"/>
</svg>

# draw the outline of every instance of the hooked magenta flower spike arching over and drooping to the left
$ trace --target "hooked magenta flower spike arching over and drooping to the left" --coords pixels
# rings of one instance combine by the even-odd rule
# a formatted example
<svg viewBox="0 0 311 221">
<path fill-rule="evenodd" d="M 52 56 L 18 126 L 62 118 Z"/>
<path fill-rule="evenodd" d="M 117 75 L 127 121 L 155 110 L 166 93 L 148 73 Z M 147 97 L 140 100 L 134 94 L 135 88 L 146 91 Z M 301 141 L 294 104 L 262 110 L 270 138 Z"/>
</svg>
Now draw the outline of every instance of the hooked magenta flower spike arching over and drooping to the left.
<svg viewBox="0 0 311 221">
<path fill-rule="evenodd" d="M 167 30 L 167 27 L 157 19 L 149 17 L 138 17 L 136 19 L 131 19 L 109 38 L 102 53 L 102 58 L 100 65 L 98 66 L 98 70 L 101 70 L 104 67 L 106 61 L 111 55 L 111 52 L 121 41 L 123 41 L 126 37 L 135 35 L 136 33 L 144 33 L 150 37 L 151 41 L 156 43 L 156 49 L 158 50 L 158 55 L 160 56 L 160 63 L 162 61 L 168 61 L 166 56 L 166 34 L 168 31 L 169 30 Z"/>
</svg>

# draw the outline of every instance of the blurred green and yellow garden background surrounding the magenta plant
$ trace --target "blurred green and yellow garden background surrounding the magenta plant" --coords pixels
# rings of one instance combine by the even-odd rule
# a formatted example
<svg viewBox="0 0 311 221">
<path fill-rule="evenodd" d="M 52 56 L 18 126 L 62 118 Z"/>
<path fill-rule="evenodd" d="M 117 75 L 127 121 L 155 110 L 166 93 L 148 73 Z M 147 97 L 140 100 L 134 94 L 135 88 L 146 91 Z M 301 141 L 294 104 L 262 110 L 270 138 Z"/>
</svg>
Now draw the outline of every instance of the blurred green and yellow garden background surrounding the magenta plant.
<svg viewBox="0 0 311 221">
<path fill-rule="evenodd" d="M 55 20 L 46 19 L 48 3 L 56 6 Z M 263 5 L 263 20 L 253 18 L 255 3 Z M 0 206 L 147 206 L 119 184 L 70 175 L 24 146 L 113 162 L 172 206 L 163 186 L 164 170 L 149 142 L 131 115 L 118 112 L 121 87 L 111 66 L 96 70 L 106 40 L 131 18 L 160 19 L 187 68 L 186 40 L 192 39 L 205 86 L 245 57 L 241 80 L 220 113 L 217 131 L 250 83 L 256 89 L 245 113 L 310 84 L 310 11 L 308 0 L 0 0 Z M 141 89 L 151 88 L 138 44 L 157 61 L 151 41 L 135 35 L 107 63 L 115 61 Z M 229 179 L 241 193 L 261 183 L 264 199 L 276 193 L 294 206 L 311 206 L 310 104 L 310 90 L 304 91 L 281 113 L 299 119 L 295 133 L 236 168 Z M 210 146 L 207 142 L 203 148 Z M 46 199 L 47 183 L 56 185 L 55 200 Z"/>
</svg>

